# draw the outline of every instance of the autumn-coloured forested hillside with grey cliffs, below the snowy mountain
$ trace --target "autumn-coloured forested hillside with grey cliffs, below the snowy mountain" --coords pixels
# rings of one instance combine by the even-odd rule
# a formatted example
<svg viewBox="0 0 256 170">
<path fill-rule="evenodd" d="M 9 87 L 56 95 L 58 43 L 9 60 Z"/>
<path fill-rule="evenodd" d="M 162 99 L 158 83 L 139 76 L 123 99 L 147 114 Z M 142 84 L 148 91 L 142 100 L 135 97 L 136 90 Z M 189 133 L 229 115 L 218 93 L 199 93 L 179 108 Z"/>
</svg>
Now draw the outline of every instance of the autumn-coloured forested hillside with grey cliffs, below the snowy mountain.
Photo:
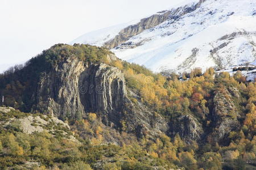
<svg viewBox="0 0 256 170">
<path fill-rule="evenodd" d="M 1 121 L 40 112 L 79 140 L 1 125 L 2 168 L 255 168 L 256 84 L 240 71 L 155 74 L 105 48 L 57 44 L 0 82 L 4 105 L 26 112 Z"/>
</svg>

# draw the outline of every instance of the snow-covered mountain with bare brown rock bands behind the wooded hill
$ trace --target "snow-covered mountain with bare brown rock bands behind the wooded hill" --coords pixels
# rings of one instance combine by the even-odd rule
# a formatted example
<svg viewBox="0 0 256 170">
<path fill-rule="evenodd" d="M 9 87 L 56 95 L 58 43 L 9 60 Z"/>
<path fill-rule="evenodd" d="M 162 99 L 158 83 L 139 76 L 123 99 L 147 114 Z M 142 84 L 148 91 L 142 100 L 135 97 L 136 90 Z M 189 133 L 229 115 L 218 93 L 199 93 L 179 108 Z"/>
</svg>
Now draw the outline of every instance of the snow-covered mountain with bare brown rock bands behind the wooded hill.
<svg viewBox="0 0 256 170">
<path fill-rule="evenodd" d="M 153 71 L 245 65 L 256 59 L 256 1 L 190 0 L 71 43 L 106 46 L 117 57 Z"/>
</svg>

